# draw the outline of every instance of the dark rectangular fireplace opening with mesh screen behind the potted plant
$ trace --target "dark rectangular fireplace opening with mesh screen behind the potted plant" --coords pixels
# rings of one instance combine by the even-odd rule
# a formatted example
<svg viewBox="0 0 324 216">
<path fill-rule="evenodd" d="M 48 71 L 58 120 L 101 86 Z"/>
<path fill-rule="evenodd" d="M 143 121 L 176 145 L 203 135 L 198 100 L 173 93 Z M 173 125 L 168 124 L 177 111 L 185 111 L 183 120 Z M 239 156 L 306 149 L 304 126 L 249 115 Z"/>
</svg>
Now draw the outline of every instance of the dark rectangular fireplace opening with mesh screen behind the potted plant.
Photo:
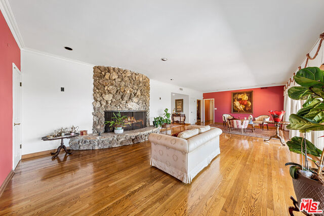
<svg viewBox="0 0 324 216">
<path fill-rule="evenodd" d="M 140 129 L 146 127 L 146 111 L 143 110 L 109 110 L 105 111 L 105 121 L 114 120 L 113 113 L 117 114 L 120 112 L 120 115 L 126 115 L 127 119 L 125 120 L 126 126 L 124 126 L 124 131 L 131 131 L 134 129 Z M 110 128 L 108 124 L 105 125 L 105 132 L 113 132 L 113 128 Z"/>
</svg>

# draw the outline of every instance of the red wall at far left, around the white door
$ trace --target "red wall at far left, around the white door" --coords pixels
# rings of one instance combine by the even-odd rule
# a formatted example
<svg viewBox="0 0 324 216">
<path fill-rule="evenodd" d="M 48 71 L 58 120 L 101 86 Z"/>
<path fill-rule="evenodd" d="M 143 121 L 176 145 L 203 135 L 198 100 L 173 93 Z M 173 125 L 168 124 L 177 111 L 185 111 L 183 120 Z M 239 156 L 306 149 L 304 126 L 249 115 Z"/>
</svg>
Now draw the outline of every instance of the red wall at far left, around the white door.
<svg viewBox="0 0 324 216">
<path fill-rule="evenodd" d="M 0 185 L 12 169 L 12 63 L 20 69 L 20 49 L 0 12 Z"/>
</svg>

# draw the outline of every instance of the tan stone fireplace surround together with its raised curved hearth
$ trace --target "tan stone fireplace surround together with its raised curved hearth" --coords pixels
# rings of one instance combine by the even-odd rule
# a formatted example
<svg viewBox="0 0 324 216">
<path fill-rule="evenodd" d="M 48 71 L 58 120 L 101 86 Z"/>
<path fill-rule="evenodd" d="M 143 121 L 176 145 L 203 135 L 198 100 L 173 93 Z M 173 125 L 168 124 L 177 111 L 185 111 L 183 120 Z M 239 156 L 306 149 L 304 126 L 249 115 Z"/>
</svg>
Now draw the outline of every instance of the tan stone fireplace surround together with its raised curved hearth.
<svg viewBox="0 0 324 216">
<path fill-rule="evenodd" d="M 70 139 L 73 150 L 102 149 L 146 141 L 159 129 L 149 125 L 149 78 L 143 74 L 116 67 L 93 68 L 93 128 L 94 134 Z M 105 132 L 105 111 L 146 111 L 146 125 L 123 134 Z M 101 136 L 98 133 L 102 133 Z"/>
</svg>

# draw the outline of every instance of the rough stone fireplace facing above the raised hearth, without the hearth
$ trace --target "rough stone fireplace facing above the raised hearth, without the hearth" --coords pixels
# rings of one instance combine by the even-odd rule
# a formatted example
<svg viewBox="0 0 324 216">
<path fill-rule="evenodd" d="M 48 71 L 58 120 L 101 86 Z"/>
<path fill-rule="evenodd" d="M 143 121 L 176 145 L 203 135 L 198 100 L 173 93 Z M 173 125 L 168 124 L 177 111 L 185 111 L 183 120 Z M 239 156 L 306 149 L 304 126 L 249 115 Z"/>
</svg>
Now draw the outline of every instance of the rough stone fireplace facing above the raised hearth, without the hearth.
<svg viewBox="0 0 324 216">
<path fill-rule="evenodd" d="M 146 118 L 143 120 L 146 122 L 143 122 L 143 125 L 148 126 L 149 78 L 143 74 L 116 67 L 95 66 L 93 69 L 93 133 L 112 132 L 104 124 L 109 110 L 145 112 Z M 124 128 L 124 130 L 132 129 L 132 127 Z"/>
</svg>

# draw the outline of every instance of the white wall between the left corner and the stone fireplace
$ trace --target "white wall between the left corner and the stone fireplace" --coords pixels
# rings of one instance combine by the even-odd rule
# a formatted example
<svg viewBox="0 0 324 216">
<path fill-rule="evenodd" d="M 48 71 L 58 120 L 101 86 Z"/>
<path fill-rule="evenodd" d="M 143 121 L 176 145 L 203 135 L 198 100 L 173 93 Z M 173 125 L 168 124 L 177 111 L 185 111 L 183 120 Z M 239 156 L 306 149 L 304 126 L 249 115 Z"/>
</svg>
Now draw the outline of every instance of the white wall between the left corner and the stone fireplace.
<svg viewBox="0 0 324 216">
<path fill-rule="evenodd" d="M 92 67 L 22 50 L 22 154 L 56 149 L 60 140 L 41 137 L 61 127 L 73 124 L 92 133 Z"/>
</svg>

